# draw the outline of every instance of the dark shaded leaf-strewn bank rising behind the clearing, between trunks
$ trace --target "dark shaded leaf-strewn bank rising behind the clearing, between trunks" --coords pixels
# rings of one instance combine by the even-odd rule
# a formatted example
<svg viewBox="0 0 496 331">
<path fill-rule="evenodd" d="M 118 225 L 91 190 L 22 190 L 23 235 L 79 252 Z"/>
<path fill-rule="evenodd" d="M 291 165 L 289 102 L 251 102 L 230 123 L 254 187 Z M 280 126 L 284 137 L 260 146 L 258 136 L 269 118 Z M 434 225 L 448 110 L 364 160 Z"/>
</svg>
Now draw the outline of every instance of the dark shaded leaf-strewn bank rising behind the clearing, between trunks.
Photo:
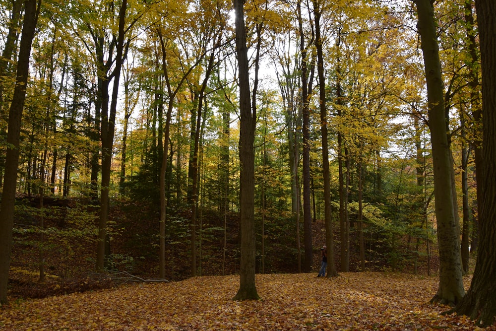
<svg viewBox="0 0 496 331">
<path fill-rule="evenodd" d="M 41 298 L 72 292 L 110 288 L 123 283 L 157 279 L 158 275 L 158 222 L 154 205 L 130 200 L 117 201 L 110 211 L 112 245 L 109 255 L 109 273 L 94 271 L 95 239 L 92 230 L 97 206 L 77 199 L 49 200 L 43 242 L 47 277 L 39 282 L 39 209 L 36 199 L 19 199 L 14 234 L 14 247 L 9 282 L 12 298 Z M 50 205 L 52 204 L 52 205 Z M 190 277 L 190 234 L 188 211 L 179 212 L 175 228 L 167 238 L 166 279 L 179 281 Z M 218 213 L 203 213 L 199 228 L 199 270 L 197 275 L 228 275 L 239 272 L 239 215 L 227 217 L 227 250 L 224 260 L 223 218 Z M 89 224 L 88 224 L 89 223 Z M 298 272 L 297 250 L 294 247 L 294 228 L 282 219 L 271 221 L 265 242 L 265 273 Z M 81 227 L 86 224 L 88 229 Z M 257 222 L 257 228 L 260 228 Z M 336 227 L 336 261 L 339 261 L 339 228 Z M 325 242 L 325 225 L 317 219 L 312 223 L 313 271 L 320 267 L 320 247 Z M 351 232 L 350 271 L 361 271 L 357 229 Z M 407 236 L 396 238 L 395 246 L 389 238 L 377 233 L 367 238 L 367 271 L 401 271 L 421 275 L 437 273 L 436 249 L 427 254 L 426 244 L 418 248 Z M 256 272 L 261 273 L 261 238 L 257 235 Z M 418 249 L 419 251 L 416 251 Z M 336 263 L 336 269 L 340 266 Z"/>
</svg>

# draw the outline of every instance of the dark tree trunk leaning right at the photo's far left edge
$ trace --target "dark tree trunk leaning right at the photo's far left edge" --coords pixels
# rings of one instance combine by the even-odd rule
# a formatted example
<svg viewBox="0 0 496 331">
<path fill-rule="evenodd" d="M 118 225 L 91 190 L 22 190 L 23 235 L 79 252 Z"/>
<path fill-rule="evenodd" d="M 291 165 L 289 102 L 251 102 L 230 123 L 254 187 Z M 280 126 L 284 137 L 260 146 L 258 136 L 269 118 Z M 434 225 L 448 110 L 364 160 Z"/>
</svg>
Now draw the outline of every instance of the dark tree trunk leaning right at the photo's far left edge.
<svg viewBox="0 0 496 331">
<path fill-rule="evenodd" d="M 17 75 L 14 95 L 8 114 L 7 151 L 5 156 L 5 176 L 0 207 L 0 304 L 7 303 L 7 280 L 12 250 L 12 227 L 14 221 L 14 200 L 19 164 L 19 137 L 22 112 L 26 101 L 26 86 L 29 75 L 29 58 L 38 15 L 41 6 L 36 0 L 24 1 L 24 20 L 17 61 Z"/>
</svg>

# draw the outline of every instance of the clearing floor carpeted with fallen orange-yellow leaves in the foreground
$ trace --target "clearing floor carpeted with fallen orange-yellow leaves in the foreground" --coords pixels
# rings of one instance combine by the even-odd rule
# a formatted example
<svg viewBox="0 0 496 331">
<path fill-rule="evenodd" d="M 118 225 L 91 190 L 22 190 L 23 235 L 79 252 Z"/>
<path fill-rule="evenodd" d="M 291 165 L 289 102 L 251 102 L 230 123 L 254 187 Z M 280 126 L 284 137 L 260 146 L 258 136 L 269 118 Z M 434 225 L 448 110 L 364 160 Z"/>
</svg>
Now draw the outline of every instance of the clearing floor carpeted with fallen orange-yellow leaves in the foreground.
<svg viewBox="0 0 496 331">
<path fill-rule="evenodd" d="M 133 283 L 11 300 L 0 307 L 0 330 L 482 330 L 441 315 L 449 307 L 429 303 L 437 285 L 437 277 L 391 272 L 260 274 L 261 299 L 238 302 L 236 275 Z"/>
</svg>

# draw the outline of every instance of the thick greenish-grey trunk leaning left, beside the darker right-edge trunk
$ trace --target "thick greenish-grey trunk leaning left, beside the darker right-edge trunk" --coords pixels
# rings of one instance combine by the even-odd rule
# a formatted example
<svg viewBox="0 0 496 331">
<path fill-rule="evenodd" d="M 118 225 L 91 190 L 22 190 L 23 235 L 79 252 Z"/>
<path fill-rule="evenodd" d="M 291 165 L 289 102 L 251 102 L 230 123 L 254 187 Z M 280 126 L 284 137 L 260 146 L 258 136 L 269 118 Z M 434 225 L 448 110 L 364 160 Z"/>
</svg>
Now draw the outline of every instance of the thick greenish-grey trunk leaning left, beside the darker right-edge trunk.
<svg viewBox="0 0 496 331">
<path fill-rule="evenodd" d="M 439 288 L 433 302 L 456 304 L 465 294 L 460 258 L 458 224 L 454 215 L 451 174 L 453 167 L 446 135 L 446 117 L 439 49 L 430 0 L 415 0 L 419 17 L 429 102 L 429 128 L 434 166 L 435 216 L 439 246 Z"/>
</svg>

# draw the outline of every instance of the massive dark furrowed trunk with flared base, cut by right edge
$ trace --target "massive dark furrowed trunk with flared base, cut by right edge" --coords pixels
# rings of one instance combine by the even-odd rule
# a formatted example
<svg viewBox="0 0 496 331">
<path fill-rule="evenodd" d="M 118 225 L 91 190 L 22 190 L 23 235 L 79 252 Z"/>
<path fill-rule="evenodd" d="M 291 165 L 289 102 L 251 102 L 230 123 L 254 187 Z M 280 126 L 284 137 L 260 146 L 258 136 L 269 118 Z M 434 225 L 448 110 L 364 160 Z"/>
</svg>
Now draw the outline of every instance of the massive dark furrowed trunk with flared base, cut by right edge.
<svg viewBox="0 0 496 331">
<path fill-rule="evenodd" d="M 496 2 L 476 0 L 481 44 L 483 107 L 483 177 L 480 241 L 472 283 L 467 295 L 454 308 L 476 320 L 478 327 L 496 323 Z"/>
</svg>

